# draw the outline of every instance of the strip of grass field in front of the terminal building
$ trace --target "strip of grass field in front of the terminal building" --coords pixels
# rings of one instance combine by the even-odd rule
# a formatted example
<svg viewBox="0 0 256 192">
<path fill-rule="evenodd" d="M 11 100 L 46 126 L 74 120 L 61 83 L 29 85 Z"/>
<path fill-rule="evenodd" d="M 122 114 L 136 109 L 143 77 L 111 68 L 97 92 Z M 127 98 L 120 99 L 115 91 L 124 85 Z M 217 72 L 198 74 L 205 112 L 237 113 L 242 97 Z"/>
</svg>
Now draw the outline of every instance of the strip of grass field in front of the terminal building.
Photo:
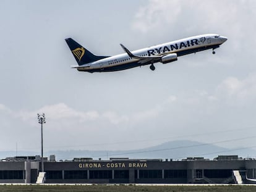
<svg viewBox="0 0 256 192">
<path fill-rule="evenodd" d="M 137 186 L 137 185 L 0 185 L 1 192 L 179 192 L 179 191 L 256 191 L 256 186 L 223 185 L 223 186 Z"/>
</svg>

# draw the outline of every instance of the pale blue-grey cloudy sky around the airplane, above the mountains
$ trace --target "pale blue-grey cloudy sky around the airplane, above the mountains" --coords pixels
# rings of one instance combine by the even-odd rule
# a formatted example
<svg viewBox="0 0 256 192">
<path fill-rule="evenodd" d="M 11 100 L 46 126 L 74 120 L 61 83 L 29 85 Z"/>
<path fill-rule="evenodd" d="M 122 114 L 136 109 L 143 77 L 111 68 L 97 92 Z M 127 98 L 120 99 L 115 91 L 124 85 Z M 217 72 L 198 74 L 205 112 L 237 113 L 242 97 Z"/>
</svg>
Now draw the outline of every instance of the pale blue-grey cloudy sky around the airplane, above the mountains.
<svg viewBox="0 0 256 192">
<path fill-rule="evenodd" d="M 256 149 L 255 9 L 253 0 L 1 0 L 0 151 L 40 154 L 37 113 L 45 151 L 175 140 Z M 155 71 L 78 72 L 64 41 L 113 56 L 119 43 L 136 50 L 205 33 L 228 41 Z"/>
</svg>

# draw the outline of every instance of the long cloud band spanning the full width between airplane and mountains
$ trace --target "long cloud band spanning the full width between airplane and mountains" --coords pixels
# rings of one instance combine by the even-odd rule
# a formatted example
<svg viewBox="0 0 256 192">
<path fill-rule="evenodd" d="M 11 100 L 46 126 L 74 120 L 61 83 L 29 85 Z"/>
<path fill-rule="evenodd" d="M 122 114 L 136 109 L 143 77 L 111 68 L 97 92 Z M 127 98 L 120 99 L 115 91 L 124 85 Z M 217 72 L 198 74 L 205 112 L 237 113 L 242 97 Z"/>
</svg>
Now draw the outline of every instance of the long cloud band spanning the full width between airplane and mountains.
<svg viewBox="0 0 256 192">
<path fill-rule="evenodd" d="M 191 94 L 186 92 L 177 94 L 178 96 L 171 94 L 150 109 L 133 111 L 130 114 L 120 114 L 117 111 L 79 111 L 64 103 L 43 106 L 35 111 L 20 110 L 15 113 L 0 104 L 0 111 L 16 119 L 21 119 L 23 122 L 28 122 L 30 125 L 36 125 L 36 114 L 44 112 L 46 119 L 54 120 L 55 123 L 64 120 L 69 126 L 72 126 L 72 122 L 76 126 L 79 124 L 84 126 L 84 122 L 93 122 L 93 124 L 96 123 L 95 125 L 104 124 L 105 122 L 113 125 L 128 125 L 132 123 L 132 125 L 136 126 L 137 123 L 161 119 L 161 115 L 164 115 L 164 113 L 176 112 L 176 107 L 180 111 L 182 109 L 193 109 L 195 113 L 203 114 L 203 112 L 207 112 L 207 114 L 211 114 L 218 110 L 218 106 L 221 104 L 251 104 L 255 101 L 256 96 L 256 73 L 250 74 L 243 80 L 239 80 L 236 77 L 228 77 L 217 86 L 213 93 L 208 93 L 205 90 L 194 90 Z M 171 105 L 175 105 L 175 107 L 170 107 Z"/>
</svg>

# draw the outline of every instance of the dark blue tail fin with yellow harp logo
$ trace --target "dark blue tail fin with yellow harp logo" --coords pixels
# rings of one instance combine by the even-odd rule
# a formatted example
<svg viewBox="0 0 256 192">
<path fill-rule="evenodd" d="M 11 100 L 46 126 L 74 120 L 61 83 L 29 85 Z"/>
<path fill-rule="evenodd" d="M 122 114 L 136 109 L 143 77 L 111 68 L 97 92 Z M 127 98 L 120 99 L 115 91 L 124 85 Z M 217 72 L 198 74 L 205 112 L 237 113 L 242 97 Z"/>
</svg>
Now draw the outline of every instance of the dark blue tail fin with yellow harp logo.
<svg viewBox="0 0 256 192">
<path fill-rule="evenodd" d="M 93 61 L 98 61 L 100 59 L 104 59 L 108 56 L 95 56 L 92 52 L 88 51 L 87 49 L 83 48 L 79 43 L 72 40 L 72 38 L 67 38 L 66 40 L 67 45 L 69 46 L 70 51 L 72 52 L 73 56 L 75 57 L 75 61 L 77 64 L 83 65 L 88 64 Z"/>
</svg>

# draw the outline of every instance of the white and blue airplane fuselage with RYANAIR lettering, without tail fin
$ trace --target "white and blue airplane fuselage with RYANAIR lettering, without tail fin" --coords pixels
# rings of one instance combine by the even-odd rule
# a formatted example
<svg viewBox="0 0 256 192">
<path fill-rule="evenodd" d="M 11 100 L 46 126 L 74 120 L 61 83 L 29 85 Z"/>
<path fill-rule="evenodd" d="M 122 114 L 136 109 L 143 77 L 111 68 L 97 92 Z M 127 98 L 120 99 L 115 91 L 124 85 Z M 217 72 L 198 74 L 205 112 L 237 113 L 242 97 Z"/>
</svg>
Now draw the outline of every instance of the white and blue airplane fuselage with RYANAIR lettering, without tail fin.
<svg viewBox="0 0 256 192">
<path fill-rule="evenodd" d="M 198 35 L 132 51 L 132 54 L 140 57 L 159 57 L 176 53 L 177 57 L 179 57 L 206 49 L 218 48 L 226 40 L 226 37 L 216 34 Z M 91 62 L 86 65 L 80 65 L 79 67 L 77 66 L 74 68 L 77 68 L 79 71 L 87 72 L 109 72 L 153 64 L 153 62 L 145 62 L 145 64 L 141 64 L 139 61 L 140 59 L 134 59 L 127 53 L 124 53 L 116 56 L 106 57 L 105 59 L 100 59 L 98 61 Z"/>
</svg>

